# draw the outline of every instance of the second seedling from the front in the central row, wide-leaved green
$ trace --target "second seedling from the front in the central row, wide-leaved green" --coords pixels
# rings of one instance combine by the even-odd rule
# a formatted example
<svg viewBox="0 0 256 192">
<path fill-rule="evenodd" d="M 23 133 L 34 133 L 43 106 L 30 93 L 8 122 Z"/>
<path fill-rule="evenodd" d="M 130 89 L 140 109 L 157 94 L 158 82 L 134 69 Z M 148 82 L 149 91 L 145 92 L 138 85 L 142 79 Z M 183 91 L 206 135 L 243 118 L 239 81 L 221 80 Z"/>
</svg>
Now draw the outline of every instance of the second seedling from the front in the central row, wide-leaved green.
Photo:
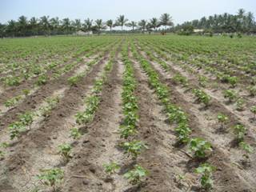
<svg viewBox="0 0 256 192">
<path fill-rule="evenodd" d="M 125 154 L 131 155 L 134 159 L 138 157 L 138 154 L 142 153 L 142 150 L 148 149 L 146 144 L 141 141 L 124 142 L 121 146 L 125 150 Z"/>
</svg>

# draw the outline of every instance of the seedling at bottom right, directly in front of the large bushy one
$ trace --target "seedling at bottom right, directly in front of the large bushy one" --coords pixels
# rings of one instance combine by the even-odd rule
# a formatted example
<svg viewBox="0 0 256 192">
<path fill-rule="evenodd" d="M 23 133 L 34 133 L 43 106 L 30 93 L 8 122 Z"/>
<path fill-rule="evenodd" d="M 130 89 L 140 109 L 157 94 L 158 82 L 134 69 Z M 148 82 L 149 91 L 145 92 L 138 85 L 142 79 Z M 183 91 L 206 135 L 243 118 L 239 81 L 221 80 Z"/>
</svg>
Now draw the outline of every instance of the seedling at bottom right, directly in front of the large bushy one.
<svg viewBox="0 0 256 192">
<path fill-rule="evenodd" d="M 200 183 L 202 189 L 210 190 L 213 188 L 214 181 L 211 177 L 215 169 L 216 168 L 209 163 L 203 163 L 195 170 L 197 174 L 201 174 Z"/>
</svg>

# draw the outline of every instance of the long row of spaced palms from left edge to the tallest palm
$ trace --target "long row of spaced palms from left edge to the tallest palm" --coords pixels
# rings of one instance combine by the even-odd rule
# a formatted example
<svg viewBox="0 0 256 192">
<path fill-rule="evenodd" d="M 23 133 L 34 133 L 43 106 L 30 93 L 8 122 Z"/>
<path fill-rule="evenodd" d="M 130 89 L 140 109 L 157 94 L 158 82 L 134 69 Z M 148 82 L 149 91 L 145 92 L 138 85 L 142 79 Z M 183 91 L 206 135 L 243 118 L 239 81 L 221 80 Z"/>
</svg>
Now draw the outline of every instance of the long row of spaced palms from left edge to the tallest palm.
<svg viewBox="0 0 256 192">
<path fill-rule="evenodd" d="M 139 22 L 130 21 L 120 15 L 114 21 L 112 19 L 103 22 L 102 19 L 95 21 L 87 18 L 84 22 L 81 19 L 70 20 L 70 18 L 49 18 L 42 16 L 41 18 L 26 18 L 21 16 L 17 21 L 10 20 L 6 24 L 0 23 L 1 37 L 27 37 L 33 35 L 56 35 L 56 34 L 74 34 L 80 30 L 84 32 L 100 33 L 107 28 L 112 32 L 113 28 L 120 26 L 123 31 L 123 26 L 129 27 L 130 31 L 140 30 L 142 32 L 157 30 L 160 26 L 174 26 L 170 14 L 162 14 L 160 18 L 152 18 L 150 21 L 142 19 Z"/>
</svg>

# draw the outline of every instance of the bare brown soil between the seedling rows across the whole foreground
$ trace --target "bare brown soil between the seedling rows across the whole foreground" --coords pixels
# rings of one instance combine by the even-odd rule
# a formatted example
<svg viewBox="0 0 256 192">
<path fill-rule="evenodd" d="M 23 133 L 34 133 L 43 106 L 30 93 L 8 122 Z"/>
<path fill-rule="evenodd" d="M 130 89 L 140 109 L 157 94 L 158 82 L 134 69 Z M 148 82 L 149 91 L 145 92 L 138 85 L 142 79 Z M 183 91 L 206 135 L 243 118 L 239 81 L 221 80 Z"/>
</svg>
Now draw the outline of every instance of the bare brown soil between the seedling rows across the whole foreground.
<svg viewBox="0 0 256 192">
<path fill-rule="evenodd" d="M 211 191 L 255 192 L 256 154 L 250 154 L 250 166 L 245 165 L 242 162 L 243 152 L 234 139 L 233 131 L 221 130 L 217 121 L 218 113 L 222 112 L 230 118 L 227 127 L 237 122 L 244 123 L 249 129 L 246 142 L 255 148 L 254 124 L 248 122 L 246 112 L 234 112 L 234 108 L 227 106 L 220 94 L 214 94 L 208 87 L 203 90 L 212 96 L 212 101 L 210 106 L 203 106 L 195 101 L 194 94 L 191 93 L 193 88 L 199 87 L 194 76 L 170 62 L 170 71 L 164 71 L 158 62 L 151 61 L 150 65 L 158 72 L 161 82 L 170 88 L 170 101 L 180 106 L 188 115 L 189 126 L 193 130 L 191 136 L 205 138 L 213 144 L 214 151 L 208 158 L 194 160 L 187 146 L 177 145 L 175 125 L 167 121 L 166 112 L 154 90 L 150 88 L 146 73 L 130 51 L 129 58 L 138 82 L 134 92 L 138 98 L 139 115 L 138 134 L 135 139 L 145 142 L 149 149 L 144 150 L 136 161 L 123 153 L 118 146 L 125 141 L 118 134 L 123 118 L 124 63 L 120 54 L 121 46 L 116 51 L 113 69 L 103 85 L 101 102 L 93 122 L 79 127 L 83 133 L 82 138 L 74 141 L 69 137 L 70 128 L 77 126 L 74 114 L 84 110 L 83 99 L 90 95 L 95 78 L 99 77 L 109 61 L 110 50 L 92 66 L 77 86 L 69 86 L 66 79 L 85 70 L 84 63 L 41 86 L 34 94 L 1 116 L 0 142 L 9 136 L 6 127 L 18 118 L 18 114 L 27 110 L 38 110 L 38 106 L 43 105 L 46 98 L 63 90 L 62 98 L 50 116 L 38 119 L 21 138 L 11 142 L 6 158 L 0 159 L 0 192 L 29 192 L 36 191 L 37 187 L 40 192 L 50 192 L 50 188 L 42 186 L 35 177 L 40 169 L 53 167 L 60 167 L 65 171 L 63 182 L 59 185 L 59 191 L 62 192 L 203 191 L 200 189 L 199 175 L 194 173 L 194 169 L 202 162 L 210 162 L 217 167 L 213 176 L 214 189 Z M 138 43 L 135 46 L 138 49 Z M 138 53 L 149 60 L 142 50 L 138 50 Z M 172 78 L 178 72 L 190 80 L 188 87 L 174 83 Z M 0 89 L 3 96 L 0 103 L 30 87 L 30 83 L 24 83 L 7 92 L 2 90 L 2 94 Z M 58 154 L 58 145 L 64 142 L 72 145 L 72 158 L 69 162 L 63 162 Z M 103 164 L 109 162 L 117 162 L 121 166 L 117 174 L 110 176 L 105 173 Z M 133 186 L 123 177 L 135 163 L 150 172 L 141 186 Z M 182 182 L 178 181 L 179 174 L 185 175 Z"/>
</svg>

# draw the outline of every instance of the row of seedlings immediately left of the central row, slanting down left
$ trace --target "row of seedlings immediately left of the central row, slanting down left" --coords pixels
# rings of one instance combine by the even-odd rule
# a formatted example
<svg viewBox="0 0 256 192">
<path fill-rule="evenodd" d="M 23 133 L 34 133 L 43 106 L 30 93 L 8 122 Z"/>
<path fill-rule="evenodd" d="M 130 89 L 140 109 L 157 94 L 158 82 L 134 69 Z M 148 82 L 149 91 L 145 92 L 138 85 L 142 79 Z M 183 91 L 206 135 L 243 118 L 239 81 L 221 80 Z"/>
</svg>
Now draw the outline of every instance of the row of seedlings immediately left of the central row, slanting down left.
<svg viewBox="0 0 256 192">
<path fill-rule="evenodd" d="M 77 126 L 70 128 L 70 138 L 78 140 L 82 137 L 82 128 L 84 125 L 92 122 L 94 120 L 94 114 L 98 110 L 98 106 L 101 102 L 102 88 L 107 80 L 107 75 L 110 74 L 114 64 L 114 54 L 116 49 L 112 50 L 110 53 L 110 60 L 104 66 L 103 73 L 101 76 L 94 80 L 94 86 L 91 93 L 84 98 L 84 104 L 86 106 L 85 110 L 75 114 L 75 120 Z M 65 163 L 70 161 L 72 146 L 70 143 L 62 143 L 58 146 L 58 153 L 61 154 L 62 159 Z M 64 170 L 61 168 L 52 168 L 48 170 L 40 170 L 38 179 L 44 183 L 46 186 L 51 186 L 53 190 L 58 190 L 58 184 L 63 181 Z"/>
</svg>

